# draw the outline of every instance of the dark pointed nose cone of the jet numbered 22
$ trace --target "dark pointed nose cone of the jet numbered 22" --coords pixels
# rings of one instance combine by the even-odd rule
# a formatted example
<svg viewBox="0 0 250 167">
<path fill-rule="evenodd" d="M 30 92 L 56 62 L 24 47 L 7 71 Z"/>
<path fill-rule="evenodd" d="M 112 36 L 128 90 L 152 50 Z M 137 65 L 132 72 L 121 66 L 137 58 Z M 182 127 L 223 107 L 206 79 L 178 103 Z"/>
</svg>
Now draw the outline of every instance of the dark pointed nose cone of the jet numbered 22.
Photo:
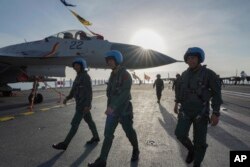
<svg viewBox="0 0 250 167">
<path fill-rule="evenodd" d="M 136 45 L 113 43 L 111 50 L 119 50 L 123 54 L 123 65 L 130 69 L 157 67 L 177 62 L 167 55 Z"/>
</svg>

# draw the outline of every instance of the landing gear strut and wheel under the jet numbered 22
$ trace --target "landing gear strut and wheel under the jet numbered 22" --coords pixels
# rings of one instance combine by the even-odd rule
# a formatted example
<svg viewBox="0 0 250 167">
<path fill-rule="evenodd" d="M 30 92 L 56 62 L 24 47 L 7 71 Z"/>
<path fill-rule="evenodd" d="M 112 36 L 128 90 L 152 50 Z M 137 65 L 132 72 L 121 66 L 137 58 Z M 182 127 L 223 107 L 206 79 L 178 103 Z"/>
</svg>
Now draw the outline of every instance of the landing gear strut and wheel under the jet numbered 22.
<svg viewBox="0 0 250 167">
<path fill-rule="evenodd" d="M 38 80 L 36 80 L 33 83 L 32 91 L 28 97 L 28 100 L 31 106 L 33 106 L 33 104 L 38 104 L 38 103 L 43 102 L 43 95 L 41 93 L 37 93 L 38 87 L 39 87 L 39 83 L 38 83 Z"/>
</svg>

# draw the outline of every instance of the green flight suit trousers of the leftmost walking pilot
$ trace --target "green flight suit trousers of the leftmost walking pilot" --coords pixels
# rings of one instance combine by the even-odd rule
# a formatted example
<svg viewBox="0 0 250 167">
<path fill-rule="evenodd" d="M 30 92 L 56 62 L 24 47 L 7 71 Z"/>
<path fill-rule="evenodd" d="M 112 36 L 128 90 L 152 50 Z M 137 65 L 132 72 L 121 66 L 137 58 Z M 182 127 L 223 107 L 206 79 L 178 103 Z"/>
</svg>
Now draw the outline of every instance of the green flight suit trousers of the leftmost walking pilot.
<svg viewBox="0 0 250 167">
<path fill-rule="evenodd" d="M 76 110 L 75 115 L 71 121 L 71 129 L 64 140 L 65 144 L 68 145 L 70 143 L 70 141 L 72 140 L 72 138 L 75 136 L 75 134 L 79 128 L 79 125 L 82 121 L 82 118 L 88 124 L 89 129 L 91 130 L 93 137 L 96 137 L 96 138 L 99 137 L 97 129 L 96 129 L 96 125 L 92 119 L 91 113 L 90 112 L 83 113 L 83 111 Z"/>
</svg>

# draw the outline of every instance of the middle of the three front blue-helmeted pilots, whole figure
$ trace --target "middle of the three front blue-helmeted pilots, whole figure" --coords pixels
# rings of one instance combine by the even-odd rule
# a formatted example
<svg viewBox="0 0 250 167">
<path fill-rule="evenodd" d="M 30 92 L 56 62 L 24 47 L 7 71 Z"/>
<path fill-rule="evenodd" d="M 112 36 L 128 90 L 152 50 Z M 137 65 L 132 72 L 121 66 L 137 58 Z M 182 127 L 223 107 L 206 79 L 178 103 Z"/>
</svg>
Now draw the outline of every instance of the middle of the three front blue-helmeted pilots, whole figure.
<svg viewBox="0 0 250 167">
<path fill-rule="evenodd" d="M 120 122 L 123 130 L 126 133 L 133 152 L 131 161 L 136 161 L 139 158 L 139 147 L 137 134 L 133 128 L 133 107 L 131 100 L 131 85 L 132 78 L 125 67 L 121 66 L 123 62 L 122 54 L 117 50 L 112 50 L 106 53 L 105 56 L 108 66 L 112 69 L 108 86 L 107 86 L 107 115 L 101 154 L 94 163 L 89 163 L 89 167 L 105 167 L 110 151 L 115 129 Z"/>
</svg>

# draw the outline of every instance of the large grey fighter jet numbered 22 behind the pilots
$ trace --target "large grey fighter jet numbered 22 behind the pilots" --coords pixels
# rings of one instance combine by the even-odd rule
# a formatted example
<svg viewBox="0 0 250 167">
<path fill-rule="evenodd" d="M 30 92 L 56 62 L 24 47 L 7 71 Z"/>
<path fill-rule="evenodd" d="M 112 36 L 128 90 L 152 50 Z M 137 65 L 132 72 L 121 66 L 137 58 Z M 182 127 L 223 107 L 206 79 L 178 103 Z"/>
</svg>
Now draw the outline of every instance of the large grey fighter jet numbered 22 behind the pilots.
<svg viewBox="0 0 250 167">
<path fill-rule="evenodd" d="M 105 69 L 104 55 L 109 50 L 119 50 L 128 69 L 150 68 L 177 62 L 154 50 L 109 42 L 102 36 L 93 36 L 82 30 L 70 30 L 42 40 L 0 48 L 0 91 L 5 95 L 11 94 L 7 83 L 65 77 L 65 67 L 71 67 L 72 60 L 76 57 L 84 58 L 90 68 Z"/>
</svg>

